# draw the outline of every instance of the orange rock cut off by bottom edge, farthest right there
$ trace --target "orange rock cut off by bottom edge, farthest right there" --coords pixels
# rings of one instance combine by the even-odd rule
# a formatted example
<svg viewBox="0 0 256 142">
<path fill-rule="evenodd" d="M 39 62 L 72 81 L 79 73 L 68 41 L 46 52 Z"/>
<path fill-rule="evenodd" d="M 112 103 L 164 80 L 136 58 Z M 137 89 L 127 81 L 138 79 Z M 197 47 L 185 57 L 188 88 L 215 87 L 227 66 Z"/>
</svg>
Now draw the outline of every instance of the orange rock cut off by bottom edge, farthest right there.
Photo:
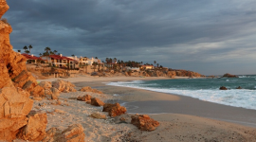
<svg viewBox="0 0 256 142">
<path fill-rule="evenodd" d="M 81 124 L 68 126 L 58 137 L 60 142 L 84 142 L 85 134 Z"/>
</svg>

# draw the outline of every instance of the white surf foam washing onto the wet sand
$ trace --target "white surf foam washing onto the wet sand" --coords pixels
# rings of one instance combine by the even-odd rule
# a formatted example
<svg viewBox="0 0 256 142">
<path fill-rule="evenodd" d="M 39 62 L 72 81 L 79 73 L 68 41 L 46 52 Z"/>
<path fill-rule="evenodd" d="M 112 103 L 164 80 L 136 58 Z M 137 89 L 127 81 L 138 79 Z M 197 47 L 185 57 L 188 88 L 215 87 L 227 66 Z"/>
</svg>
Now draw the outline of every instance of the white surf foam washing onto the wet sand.
<svg viewBox="0 0 256 142">
<path fill-rule="evenodd" d="M 139 81 L 136 81 L 139 82 Z M 110 82 L 107 85 L 123 86 L 138 88 L 144 90 L 150 90 L 155 92 L 162 92 L 168 94 L 182 95 L 192 98 L 199 98 L 201 100 L 215 102 L 219 104 L 243 107 L 247 109 L 256 110 L 256 91 L 248 89 L 231 89 L 231 90 L 219 90 L 215 89 L 200 89 L 200 90 L 185 90 L 178 88 L 153 88 L 139 85 L 139 83 L 127 83 L 127 82 Z M 256 86 L 255 86 L 256 88 Z"/>
</svg>

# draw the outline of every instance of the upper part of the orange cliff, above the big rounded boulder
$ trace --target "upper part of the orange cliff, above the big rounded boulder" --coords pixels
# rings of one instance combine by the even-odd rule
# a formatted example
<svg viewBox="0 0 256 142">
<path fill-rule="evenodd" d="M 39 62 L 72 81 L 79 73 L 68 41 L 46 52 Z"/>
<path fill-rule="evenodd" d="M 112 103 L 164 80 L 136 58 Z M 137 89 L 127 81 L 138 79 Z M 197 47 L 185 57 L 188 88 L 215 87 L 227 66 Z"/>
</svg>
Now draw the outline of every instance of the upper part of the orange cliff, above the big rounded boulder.
<svg viewBox="0 0 256 142">
<path fill-rule="evenodd" d="M 0 2 L 0 17 L 9 9 L 6 1 Z M 33 96 L 44 96 L 44 89 L 37 86 L 37 81 L 27 72 L 26 58 L 12 50 L 9 34 L 12 28 L 0 21 L 0 88 L 20 87 Z"/>
</svg>

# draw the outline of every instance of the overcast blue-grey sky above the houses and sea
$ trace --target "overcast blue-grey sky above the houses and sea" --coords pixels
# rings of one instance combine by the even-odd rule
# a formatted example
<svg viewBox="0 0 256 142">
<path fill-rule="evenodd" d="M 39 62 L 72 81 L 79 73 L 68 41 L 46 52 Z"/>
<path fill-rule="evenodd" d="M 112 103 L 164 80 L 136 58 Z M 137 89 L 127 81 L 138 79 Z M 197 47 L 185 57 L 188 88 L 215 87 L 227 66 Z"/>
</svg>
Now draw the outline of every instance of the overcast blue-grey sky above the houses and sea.
<svg viewBox="0 0 256 142">
<path fill-rule="evenodd" d="M 14 50 L 256 74 L 255 0 L 8 0 Z"/>
</svg>

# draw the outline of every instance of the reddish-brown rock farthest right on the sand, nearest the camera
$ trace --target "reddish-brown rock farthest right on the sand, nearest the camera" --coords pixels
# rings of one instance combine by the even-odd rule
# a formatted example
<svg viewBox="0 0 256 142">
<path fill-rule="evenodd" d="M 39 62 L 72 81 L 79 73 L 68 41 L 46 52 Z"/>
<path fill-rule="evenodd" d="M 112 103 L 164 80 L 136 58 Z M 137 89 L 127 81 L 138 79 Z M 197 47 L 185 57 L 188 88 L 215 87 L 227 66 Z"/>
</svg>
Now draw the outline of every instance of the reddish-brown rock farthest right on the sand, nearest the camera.
<svg viewBox="0 0 256 142">
<path fill-rule="evenodd" d="M 131 123 L 137 126 L 140 131 L 154 131 L 159 126 L 159 122 L 155 121 L 149 115 L 132 115 Z"/>
</svg>

